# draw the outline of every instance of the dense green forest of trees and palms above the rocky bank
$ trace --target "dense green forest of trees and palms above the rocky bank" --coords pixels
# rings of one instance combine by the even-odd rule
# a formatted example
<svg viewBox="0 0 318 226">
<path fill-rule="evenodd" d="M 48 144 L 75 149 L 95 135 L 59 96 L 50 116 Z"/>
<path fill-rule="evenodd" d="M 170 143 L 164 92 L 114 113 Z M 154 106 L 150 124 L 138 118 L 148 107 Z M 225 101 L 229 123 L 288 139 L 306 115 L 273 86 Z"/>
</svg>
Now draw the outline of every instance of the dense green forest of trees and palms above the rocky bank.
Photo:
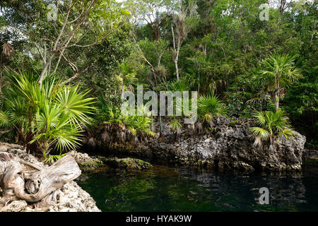
<svg viewBox="0 0 318 226">
<path fill-rule="evenodd" d="M 47 18 L 49 4 L 59 8 L 56 20 Z M 88 121 L 84 107 L 67 112 L 78 116 L 63 123 L 71 101 L 66 95 L 97 97 L 90 126 L 117 123 L 153 136 L 149 115 L 120 116 L 122 93 L 136 93 L 137 85 L 145 92 L 198 91 L 201 121 L 258 112 L 257 137 L 288 138 L 285 129 L 293 127 L 307 136 L 307 145 L 317 145 L 317 1 L 23 0 L 1 1 L 0 7 L 1 126 L 22 133 L 32 109 L 32 142 L 45 141 L 45 152 L 52 143 L 70 147 L 57 133 L 76 144 L 75 134 Z M 6 69 L 16 80 L 5 78 Z M 33 78 L 12 72 L 18 69 Z M 45 101 L 28 99 L 20 80 Z M 17 99 L 9 92 L 14 85 L 21 90 Z M 59 91 L 48 96 L 54 88 Z M 49 117 L 57 124 L 51 130 Z M 266 126 L 276 119 L 283 123 L 279 129 Z M 170 126 L 182 127 L 175 117 Z"/>
</svg>

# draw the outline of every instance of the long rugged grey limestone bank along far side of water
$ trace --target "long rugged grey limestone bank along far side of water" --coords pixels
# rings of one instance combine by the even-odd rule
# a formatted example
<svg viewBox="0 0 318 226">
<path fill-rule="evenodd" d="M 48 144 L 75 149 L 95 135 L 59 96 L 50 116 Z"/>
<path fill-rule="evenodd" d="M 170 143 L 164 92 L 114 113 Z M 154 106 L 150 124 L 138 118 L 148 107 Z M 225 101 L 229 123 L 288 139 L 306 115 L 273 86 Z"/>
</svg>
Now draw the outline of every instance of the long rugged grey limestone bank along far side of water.
<svg viewBox="0 0 318 226">
<path fill-rule="evenodd" d="M 301 169 L 305 136 L 296 132 L 294 140 L 273 141 L 273 143 L 264 141 L 259 148 L 254 145 L 254 137 L 249 131 L 252 126 L 256 126 L 253 119 L 217 117 L 209 124 L 210 130 L 204 129 L 202 124 L 197 122 L 194 125 L 184 124 L 176 135 L 170 129 L 169 121 L 163 119 L 165 139 L 157 137 L 152 141 L 141 143 L 116 140 L 116 145 L 107 141 L 98 141 L 100 143 L 98 148 L 104 148 L 110 153 L 113 151 L 114 154 L 153 158 L 221 171 Z M 158 122 L 154 124 L 154 128 L 155 131 L 159 131 Z M 97 132 L 95 137 L 100 137 Z"/>
</svg>

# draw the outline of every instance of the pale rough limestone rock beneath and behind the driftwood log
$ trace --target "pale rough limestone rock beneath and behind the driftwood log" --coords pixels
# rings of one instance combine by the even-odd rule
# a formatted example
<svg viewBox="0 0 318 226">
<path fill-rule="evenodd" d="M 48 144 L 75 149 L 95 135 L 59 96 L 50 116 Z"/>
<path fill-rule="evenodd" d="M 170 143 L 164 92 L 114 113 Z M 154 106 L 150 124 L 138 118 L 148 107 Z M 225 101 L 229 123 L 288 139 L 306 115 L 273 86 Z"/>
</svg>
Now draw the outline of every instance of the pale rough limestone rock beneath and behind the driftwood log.
<svg viewBox="0 0 318 226">
<path fill-rule="evenodd" d="M 39 162 L 33 155 L 28 155 L 23 146 L 0 143 L 0 150 L 12 153 L 21 160 L 34 163 L 42 168 L 49 167 Z M 0 212 L 100 212 L 95 205 L 95 201 L 86 191 L 81 189 L 76 182 L 69 182 L 65 184 L 59 191 L 57 191 L 57 203 L 52 203 L 50 206 L 37 206 L 35 204 L 27 203 L 25 201 L 7 201 L 1 196 L 0 189 Z"/>
</svg>

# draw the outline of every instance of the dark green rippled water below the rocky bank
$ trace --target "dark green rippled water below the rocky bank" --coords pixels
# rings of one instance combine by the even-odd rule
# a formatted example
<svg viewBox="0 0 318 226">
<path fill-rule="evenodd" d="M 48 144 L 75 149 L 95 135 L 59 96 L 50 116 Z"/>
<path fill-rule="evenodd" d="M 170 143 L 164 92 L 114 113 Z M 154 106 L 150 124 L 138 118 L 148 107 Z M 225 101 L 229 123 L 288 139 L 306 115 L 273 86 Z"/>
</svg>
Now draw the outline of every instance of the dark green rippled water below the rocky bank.
<svg viewBox="0 0 318 226">
<path fill-rule="evenodd" d="M 318 167 L 302 174 L 201 172 L 154 165 L 143 172 L 105 169 L 78 184 L 102 211 L 318 211 Z M 270 204 L 260 205 L 267 187 Z"/>
</svg>

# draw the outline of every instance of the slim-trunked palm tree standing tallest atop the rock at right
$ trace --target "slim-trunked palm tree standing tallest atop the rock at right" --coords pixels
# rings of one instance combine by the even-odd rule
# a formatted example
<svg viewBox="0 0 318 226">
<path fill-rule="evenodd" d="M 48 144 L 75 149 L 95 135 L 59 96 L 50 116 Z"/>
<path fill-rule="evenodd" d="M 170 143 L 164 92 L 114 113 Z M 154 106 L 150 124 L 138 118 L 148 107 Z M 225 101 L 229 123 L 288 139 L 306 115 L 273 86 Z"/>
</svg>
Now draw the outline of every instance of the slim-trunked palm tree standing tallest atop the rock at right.
<svg viewBox="0 0 318 226">
<path fill-rule="evenodd" d="M 264 69 L 259 71 L 257 78 L 264 81 L 264 91 L 271 95 L 276 111 L 284 88 L 302 78 L 300 71 L 294 66 L 294 61 L 295 56 L 275 53 L 262 62 Z"/>
</svg>

